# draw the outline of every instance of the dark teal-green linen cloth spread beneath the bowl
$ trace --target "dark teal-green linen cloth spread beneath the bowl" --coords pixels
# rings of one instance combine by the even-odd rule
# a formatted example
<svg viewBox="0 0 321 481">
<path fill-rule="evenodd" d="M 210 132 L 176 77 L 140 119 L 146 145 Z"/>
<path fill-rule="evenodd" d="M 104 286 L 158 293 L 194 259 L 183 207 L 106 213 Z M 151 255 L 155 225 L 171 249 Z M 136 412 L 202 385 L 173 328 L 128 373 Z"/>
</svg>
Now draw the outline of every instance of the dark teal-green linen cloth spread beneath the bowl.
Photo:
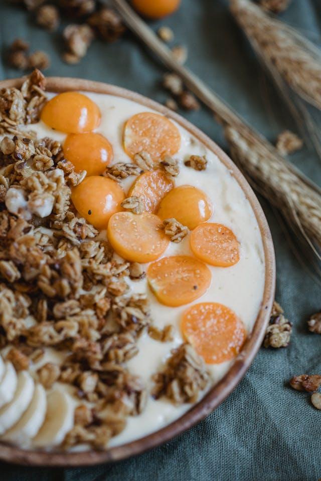
<svg viewBox="0 0 321 481">
<path fill-rule="evenodd" d="M 151 1 L 151 0 L 150 0 Z M 321 3 L 292 0 L 281 18 L 321 44 Z M 173 28 L 176 42 L 189 48 L 188 66 L 227 102 L 274 141 L 293 128 L 276 90 L 231 18 L 224 0 L 182 0 L 171 18 L 152 23 Z M 62 28 L 62 27 L 61 27 Z M 47 75 L 83 77 L 117 84 L 159 102 L 162 67 L 130 34 L 112 45 L 95 42 L 76 66 L 60 60 L 58 33 L 48 35 L 25 11 L 0 2 L 3 54 L 16 37 L 50 53 Z M 18 73 L 0 65 L 0 78 Z M 220 127 L 205 108 L 186 117 L 226 148 Z M 306 151 L 291 160 L 321 182 L 317 159 Z M 287 349 L 261 349 L 237 389 L 199 425 L 167 444 L 116 464 L 79 469 L 34 469 L 2 464 L 4 481 L 317 481 L 321 478 L 321 411 L 307 394 L 287 386 L 294 374 L 321 373 L 321 337 L 309 334 L 306 318 L 320 309 L 319 289 L 291 254 L 272 211 L 262 201 L 274 239 L 276 298 L 293 322 Z M 233 295 L 233 293 L 231 293 Z"/>
</svg>

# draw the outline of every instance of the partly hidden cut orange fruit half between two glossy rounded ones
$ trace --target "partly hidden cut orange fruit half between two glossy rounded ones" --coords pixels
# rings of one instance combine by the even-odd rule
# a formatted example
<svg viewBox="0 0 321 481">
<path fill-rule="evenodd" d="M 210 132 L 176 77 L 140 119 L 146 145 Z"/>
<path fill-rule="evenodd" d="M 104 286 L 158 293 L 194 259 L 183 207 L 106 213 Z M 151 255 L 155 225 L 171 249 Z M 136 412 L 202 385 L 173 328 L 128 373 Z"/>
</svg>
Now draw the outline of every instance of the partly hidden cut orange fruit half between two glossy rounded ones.
<svg viewBox="0 0 321 481">
<path fill-rule="evenodd" d="M 142 200 L 144 210 L 154 213 L 159 202 L 174 186 L 173 180 L 162 170 L 148 170 L 136 178 L 128 196 L 136 195 Z"/>
</svg>

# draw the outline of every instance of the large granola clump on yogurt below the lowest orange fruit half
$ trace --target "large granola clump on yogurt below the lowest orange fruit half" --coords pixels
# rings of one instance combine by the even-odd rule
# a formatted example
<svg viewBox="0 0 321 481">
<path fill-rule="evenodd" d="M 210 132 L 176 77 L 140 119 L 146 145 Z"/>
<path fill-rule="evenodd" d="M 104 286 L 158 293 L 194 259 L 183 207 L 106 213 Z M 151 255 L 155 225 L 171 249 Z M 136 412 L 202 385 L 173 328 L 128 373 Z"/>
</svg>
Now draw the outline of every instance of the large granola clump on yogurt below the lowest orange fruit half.
<svg viewBox="0 0 321 481">
<path fill-rule="evenodd" d="M 164 368 L 153 376 L 155 399 L 168 397 L 174 404 L 195 402 L 209 381 L 202 358 L 190 344 L 172 350 Z"/>
</svg>

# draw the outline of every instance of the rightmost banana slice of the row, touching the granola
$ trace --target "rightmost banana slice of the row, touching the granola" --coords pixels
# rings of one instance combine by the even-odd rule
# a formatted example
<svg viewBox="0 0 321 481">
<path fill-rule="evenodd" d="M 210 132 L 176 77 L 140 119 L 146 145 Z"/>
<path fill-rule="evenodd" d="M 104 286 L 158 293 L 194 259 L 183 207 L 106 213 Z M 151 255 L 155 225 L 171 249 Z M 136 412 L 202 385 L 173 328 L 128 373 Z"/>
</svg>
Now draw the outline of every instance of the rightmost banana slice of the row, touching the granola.
<svg viewBox="0 0 321 481">
<path fill-rule="evenodd" d="M 74 425 L 74 402 L 72 398 L 56 388 L 47 396 L 45 422 L 33 440 L 36 447 L 58 446 Z"/>
</svg>

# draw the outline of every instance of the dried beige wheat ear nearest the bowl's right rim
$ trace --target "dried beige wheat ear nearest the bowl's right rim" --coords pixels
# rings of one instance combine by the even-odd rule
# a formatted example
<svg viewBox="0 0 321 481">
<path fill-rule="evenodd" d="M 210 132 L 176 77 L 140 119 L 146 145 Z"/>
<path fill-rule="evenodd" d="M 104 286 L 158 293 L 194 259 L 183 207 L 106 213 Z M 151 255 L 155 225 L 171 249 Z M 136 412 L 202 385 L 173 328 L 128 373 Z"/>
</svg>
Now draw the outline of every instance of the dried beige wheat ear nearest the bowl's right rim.
<svg viewBox="0 0 321 481">
<path fill-rule="evenodd" d="M 252 183 L 321 246 L 321 196 L 259 139 L 249 140 L 229 125 L 224 132 L 234 160 L 247 172 Z"/>
</svg>

